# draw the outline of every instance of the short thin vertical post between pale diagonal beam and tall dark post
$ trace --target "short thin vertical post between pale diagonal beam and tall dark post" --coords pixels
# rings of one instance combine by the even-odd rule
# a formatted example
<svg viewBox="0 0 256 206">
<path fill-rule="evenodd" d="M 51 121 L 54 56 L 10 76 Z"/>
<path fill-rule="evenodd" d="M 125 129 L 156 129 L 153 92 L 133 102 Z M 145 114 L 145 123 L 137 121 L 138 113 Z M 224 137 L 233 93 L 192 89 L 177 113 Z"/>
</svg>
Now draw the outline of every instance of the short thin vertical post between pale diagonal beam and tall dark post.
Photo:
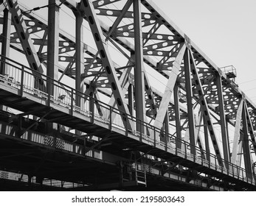
<svg viewBox="0 0 256 206">
<path fill-rule="evenodd" d="M 174 107 L 175 107 L 175 122 L 176 122 L 176 147 L 181 149 L 181 116 L 179 109 L 179 87 L 178 82 L 173 89 Z"/>
</svg>

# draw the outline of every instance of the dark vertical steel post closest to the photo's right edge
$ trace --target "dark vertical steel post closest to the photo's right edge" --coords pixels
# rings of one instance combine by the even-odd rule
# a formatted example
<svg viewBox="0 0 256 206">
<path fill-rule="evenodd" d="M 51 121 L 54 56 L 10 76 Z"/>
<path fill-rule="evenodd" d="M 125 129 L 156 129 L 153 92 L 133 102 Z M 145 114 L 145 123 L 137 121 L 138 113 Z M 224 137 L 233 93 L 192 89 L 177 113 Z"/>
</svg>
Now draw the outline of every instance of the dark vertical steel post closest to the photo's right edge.
<svg viewBox="0 0 256 206">
<path fill-rule="evenodd" d="M 246 177 L 252 179 L 252 160 L 249 148 L 249 135 L 248 135 L 248 122 L 246 118 L 246 107 L 243 104 L 243 112 L 242 112 L 242 119 L 243 119 L 243 161 L 244 167 L 246 169 Z"/>
</svg>

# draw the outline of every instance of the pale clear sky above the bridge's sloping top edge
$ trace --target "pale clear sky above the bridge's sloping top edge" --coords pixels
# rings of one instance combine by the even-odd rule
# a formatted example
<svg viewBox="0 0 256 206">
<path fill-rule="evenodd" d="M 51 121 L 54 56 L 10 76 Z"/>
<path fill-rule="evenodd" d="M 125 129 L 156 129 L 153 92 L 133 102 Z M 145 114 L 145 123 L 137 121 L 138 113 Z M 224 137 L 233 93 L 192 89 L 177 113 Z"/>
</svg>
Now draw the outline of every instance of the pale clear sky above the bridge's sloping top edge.
<svg viewBox="0 0 256 206">
<path fill-rule="evenodd" d="M 48 2 L 19 1 L 30 7 L 44 6 Z M 220 68 L 226 65 L 235 66 L 239 88 L 256 104 L 256 1 L 154 2 L 215 65 Z"/>
</svg>

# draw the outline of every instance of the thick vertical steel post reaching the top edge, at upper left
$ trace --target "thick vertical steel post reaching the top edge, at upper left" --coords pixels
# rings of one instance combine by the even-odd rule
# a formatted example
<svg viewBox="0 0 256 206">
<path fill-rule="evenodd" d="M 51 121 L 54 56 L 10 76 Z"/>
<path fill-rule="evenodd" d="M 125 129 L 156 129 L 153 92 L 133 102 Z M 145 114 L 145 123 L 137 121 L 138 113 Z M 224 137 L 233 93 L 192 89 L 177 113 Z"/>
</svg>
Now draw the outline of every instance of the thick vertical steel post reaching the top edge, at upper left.
<svg viewBox="0 0 256 206">
<path fill-rule="evenodd" d="M 59 0 L 49 0 L 48 2 L 47 76 L 58 80 Z M 52 80 L 50 82 L 49 93 L 58 96 L 57 91 L 54 91 Z"/>
</svg>

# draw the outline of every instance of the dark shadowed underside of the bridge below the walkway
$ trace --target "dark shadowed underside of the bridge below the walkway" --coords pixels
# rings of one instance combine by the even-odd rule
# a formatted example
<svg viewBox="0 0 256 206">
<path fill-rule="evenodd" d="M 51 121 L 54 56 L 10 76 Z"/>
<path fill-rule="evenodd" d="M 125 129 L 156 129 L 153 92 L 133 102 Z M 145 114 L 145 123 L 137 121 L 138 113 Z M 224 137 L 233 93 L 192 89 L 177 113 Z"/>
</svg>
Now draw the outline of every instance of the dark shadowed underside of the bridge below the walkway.
<svg viewBox="0 0 256 206">
<path fill-rule="evenodd" d="M 60 103 L 52 103 L 49 107 L 41 104 L 41 97 L 38 98 L 37 94 L 29 95 L 30 98 L 19 96 L 13 93 L 15 90 L 12 85 L 4 85 L 1 82 L 0 84 L 4 87 L 0 90 L 0 103 L 20 111 L 19 116 L 1 111 L 0 169 L 3 172 L 17 173 L 18 171 L 19 173 L 16 174 L 19 177 L 16 181 L 1 180 L 3 191 L 111 189 L 243 191 L 255 189 L 251 184 L 202 164 L 198 165 L 182 155 L 171 154 L 165 151 L 166 149 L 150 146 L 139 141 L 139 138 L 128 138 L 124 132 L 122 134 L 114 128 L 109 129 L 109 126 L 100 124 L 96 117 L 94 117 L 94 123 L 91 123 L 91 118 L 77 117 L 75 113 L 70 115 L 70 112 L 60 110 Z M 27 114 L 44 117 L 44 121 L 24 117 Z M 44 133 L 47 125 L 52 121 L 79 129 L 87 135 L 77 138 L 72 132 L 61 131 L 59 128 L 54 131 L 54 135 L 46 136 Z M 25 132 L 24 129 L 26 129 Z M 94 138 L 88 139 L 90 134 Z M 99 143 L 97 138 L 103 142 Z M 69 149 L 63 144 L 69 144 Z M 138 152 L 138 149 L 144 153 Z M 131 155 L 138 160 L 134 160 Z M 164 161 L 150 159 L 147 155 L 151 155 L 150 157 L 157 155 Z M 139 176 L 139 174 L 136 173 L 134 166 L 131 166 L 135 162 L 136 166 L 140 166 L 140 175 L 141 171 L 145 171 L 146 184 L 143 182 L 144 177 L 143 181 L 136 180 L 136 175 Z"/>
</svg>

